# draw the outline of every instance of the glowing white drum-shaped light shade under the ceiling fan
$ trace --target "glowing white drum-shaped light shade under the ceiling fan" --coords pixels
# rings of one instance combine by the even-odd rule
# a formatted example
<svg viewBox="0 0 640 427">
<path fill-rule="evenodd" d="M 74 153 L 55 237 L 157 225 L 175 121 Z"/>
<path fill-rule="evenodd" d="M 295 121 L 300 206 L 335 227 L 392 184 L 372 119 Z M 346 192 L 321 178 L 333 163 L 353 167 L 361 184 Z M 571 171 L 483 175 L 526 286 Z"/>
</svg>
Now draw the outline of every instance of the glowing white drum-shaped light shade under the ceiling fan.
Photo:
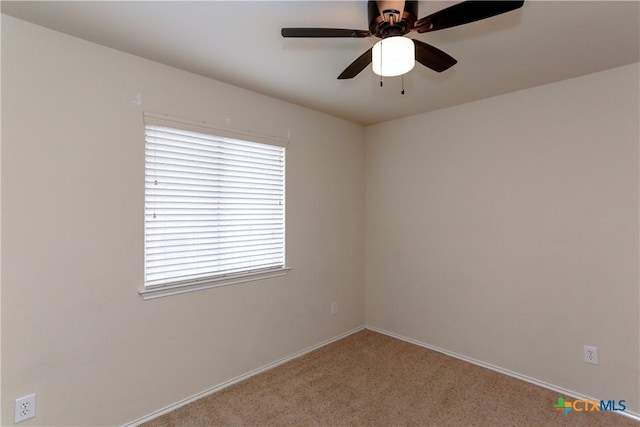
<svg viewBox="0 0 640 427">
<path fill-rule="evenodd" d="M 377 42 L 372 49 L 373 72 L 382 77 L 400 76 L 408 73 L 416 64 L 416 50 L 408 37 L 387 37 Z"/>
</svg>

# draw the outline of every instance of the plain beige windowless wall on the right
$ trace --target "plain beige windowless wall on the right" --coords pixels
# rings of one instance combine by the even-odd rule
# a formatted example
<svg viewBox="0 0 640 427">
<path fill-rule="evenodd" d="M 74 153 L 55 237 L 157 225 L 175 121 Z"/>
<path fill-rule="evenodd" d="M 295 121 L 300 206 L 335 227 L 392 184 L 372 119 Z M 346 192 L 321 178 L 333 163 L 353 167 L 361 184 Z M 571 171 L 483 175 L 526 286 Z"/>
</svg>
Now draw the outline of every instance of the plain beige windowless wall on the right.
<svg viewBox="0 0 640 427">
<path fill-rule="evenodd" d="M 367 128 L 367 324 L 638 413 L 638 70 Z"/>
</svg>

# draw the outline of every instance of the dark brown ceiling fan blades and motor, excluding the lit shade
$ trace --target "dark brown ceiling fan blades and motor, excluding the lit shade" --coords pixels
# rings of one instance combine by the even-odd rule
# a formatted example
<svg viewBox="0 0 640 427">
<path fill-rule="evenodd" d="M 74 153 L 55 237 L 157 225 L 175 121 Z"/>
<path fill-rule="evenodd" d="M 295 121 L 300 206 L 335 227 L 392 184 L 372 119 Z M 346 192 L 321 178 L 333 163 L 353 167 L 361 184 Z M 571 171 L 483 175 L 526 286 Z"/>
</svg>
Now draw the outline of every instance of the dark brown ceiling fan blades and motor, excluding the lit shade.
<svg viewBox="0 0 640 427">
<path fill-rule="evenodd" d="M 369 30 L 342 28 L 283 28 L 282 37 L 388 37 L 404 36 L 416 31 L 428 33 L 481 19 L 491 18 L 522 7 L 524 1 L 463 1 L 442 9 L 424 18 L 417 19 L 417 1 L 369 0 Z M 415 60 L 434 71 L 442 72 L 452 67 L 454 58 L 420 40 L 413 39 Z M 360 55 L 338 76 L 338 79 L 352 79 L 372 61 L 373 47 Z"/>
</svg>

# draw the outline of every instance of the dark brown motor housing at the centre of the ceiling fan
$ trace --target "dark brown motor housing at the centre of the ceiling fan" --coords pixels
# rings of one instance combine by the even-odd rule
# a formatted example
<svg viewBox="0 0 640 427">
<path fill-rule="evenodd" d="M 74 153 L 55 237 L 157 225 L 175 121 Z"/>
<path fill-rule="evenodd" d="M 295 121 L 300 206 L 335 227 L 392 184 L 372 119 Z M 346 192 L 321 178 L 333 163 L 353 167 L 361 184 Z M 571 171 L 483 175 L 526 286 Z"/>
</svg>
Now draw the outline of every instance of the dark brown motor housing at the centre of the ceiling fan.
<svg viewBox="0 0 640 427">
<path fill-rule="evenodd" d="M 407 34 L 418 19 L 417 1 L 369 0 L 369 31 L 381 39 Z"/>
</svg>

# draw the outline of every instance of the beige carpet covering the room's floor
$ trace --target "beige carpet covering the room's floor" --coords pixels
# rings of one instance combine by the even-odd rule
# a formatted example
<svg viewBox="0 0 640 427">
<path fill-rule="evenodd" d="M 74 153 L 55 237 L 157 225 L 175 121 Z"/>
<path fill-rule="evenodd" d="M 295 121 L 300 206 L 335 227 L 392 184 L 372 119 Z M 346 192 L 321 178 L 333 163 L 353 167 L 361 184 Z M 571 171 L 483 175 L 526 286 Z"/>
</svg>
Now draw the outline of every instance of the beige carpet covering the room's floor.
<svg viewBox="0 0 640 427">
<path fill-rule="evenodd" d="M 612 412 L 565 416 L 558 397 L 363 330 L 145 426 L 640 426 Z"/>
</svg>

